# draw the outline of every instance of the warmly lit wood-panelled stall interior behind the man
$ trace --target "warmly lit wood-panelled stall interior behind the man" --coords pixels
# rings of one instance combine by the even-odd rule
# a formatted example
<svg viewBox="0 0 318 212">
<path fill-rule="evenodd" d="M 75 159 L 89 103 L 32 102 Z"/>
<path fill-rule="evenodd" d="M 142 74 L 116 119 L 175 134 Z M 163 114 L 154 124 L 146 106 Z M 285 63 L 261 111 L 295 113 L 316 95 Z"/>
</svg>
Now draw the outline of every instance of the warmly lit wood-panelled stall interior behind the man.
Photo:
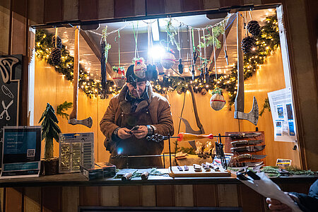
<svg viewBox="0 0 318 212">
<path fill-rule="evenodd" d="M 242 42 L 245 78 L 242 112 L 256 110 L 253 107 L 256 98 L 259 109 L 256 123 L 250 118 L 234 118 L 237 112 L 234 104 L 237 97 L 237 16 L 242 17 L 240 30 L 244 39 L 239 41 Z M 93 125 L 90 128 L 87 124 L 69 124 L 74 105 L 72 80 L 77 28 L 80 67 L 77 119 L 91 117 Z M 253 35 L 258 31 L 259 35 Z M 170 102 L 175 128 L 173 136 L 194 131 L 215 136 L 194 140 L 196 149 L 193 143 L 171 139 L 173 153 L 188 154 L 180 153 L 181 158 L 185 158 L 178 160 L 180 164 L 191 158 L 194 161 L 211 160 L 204 158 L 209 155 L 204 155 L 204 151 L 213 150 L 215 141 L 220 142 L 218 134 L 257 132 L 261 136 L 252 140 L 262 140 L 257 146 L 264 148 L 245 153 L 266 157 L 249 162 L 276 165 L 277 159 L 283 158 L 300 167 L 297 142 L 276 139 L 277 129 L 273 123 L 278 122 L 273 120 L 273 107 L 269 103 L 269 93 L 288 88 L 285 78 L 289 78 L 284 72 L 275 9 L 240 11 L 218 18 L 204 14 L 102 23 L 98 28 L 69 25 L 67 28 L 36 30 L 35 35 L 35 74 L 34 79 L 31 78 L 34 96 L 30 96 L 34 98 L 34 105 L 30 107 L 33 108 L 30 125 L 40 125 L 42 112 L 49 103 L 57 114 L 61 133 L 93 132 L 95 162 L 107 162 L 110 158 L 104 146 L 105 136 L 100 131 L 100 120 L 110 99 L 126 83 L 124 73 L 128 66 L 143 58 L 146 64 L 156 67 L 151 81 L 153 90 Z M 294 131 L 296 133 L 296 127 Z M 211 146 L 206 145 L 209 141 Z M 235 139 L 221 139 L 225 153 L 234 153 L 235 158 L 240 153 L 231 151 L 235 148 L 232 141 Z M 200 145 L 203 151 L 198 152 Z M 43 144 L 42 155 L 44 148 Z M 54 156 L 58 157 L 59 153 L 59 143 L 54 141 Z M 169 153 L 167 141 L 163 153 Z"/>
</svg>

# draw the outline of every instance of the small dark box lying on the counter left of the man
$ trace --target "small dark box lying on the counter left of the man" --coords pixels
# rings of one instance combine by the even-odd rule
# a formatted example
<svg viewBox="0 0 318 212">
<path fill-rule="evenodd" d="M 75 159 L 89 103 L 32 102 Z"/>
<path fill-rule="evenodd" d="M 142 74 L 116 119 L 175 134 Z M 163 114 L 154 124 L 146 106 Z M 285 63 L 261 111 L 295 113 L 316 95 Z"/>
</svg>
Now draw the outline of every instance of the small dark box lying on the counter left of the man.
<svg viewBox="0 0 318 212">
<path fill-rule="evenodd" d="M 89 180 L 114 177 L 116 166 L 111 163 L 95 163 L 94 167 L 81 166 L 81 172 Z"/>
</svg>

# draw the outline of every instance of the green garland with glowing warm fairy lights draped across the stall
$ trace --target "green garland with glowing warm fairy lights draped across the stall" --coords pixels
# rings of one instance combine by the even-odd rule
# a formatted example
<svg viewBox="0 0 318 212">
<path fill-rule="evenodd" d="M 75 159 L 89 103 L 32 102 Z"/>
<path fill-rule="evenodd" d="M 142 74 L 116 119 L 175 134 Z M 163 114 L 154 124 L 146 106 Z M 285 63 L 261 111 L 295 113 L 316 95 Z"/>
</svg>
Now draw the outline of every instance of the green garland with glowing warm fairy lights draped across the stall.
<svg viewBox="0 0 318 212">
<path fill-rule="evenodd" d="M 37 30 L 35 37 L 35 54 L 38 59 L 44 59 L 47 64 L 54 66 L 50 60 L 50 52 L 54 47 L 52 45 L 53 34 L 47 33 L 45 30 Z M 266 58 L 269 57 L 279 46 L 278 22 L 276 15 L 266 17 L 266 21 L 261 26 L 261 34 L 255 37 L 256 42 L 251 52 L 244 54 L 244 77 L 251 77 L 261 64 L 264 64 Z M 55 70 L 64 75 L 64 77 L 73 81 L 73 57 L 63 45 L 61 48 L 61 62 L 54 66 Z M 201 81 L 200 76 L 192 77 L 164 76 L 163 80 L 151 81 L 153 90 L 160 94 L 177 91 L 182 94 L 192 86 L 195 93 L 206 94 L 209 90 L 221 88 L 228 92 L 229 104 L 232 105 L 235 100 L 237 90 L 237 65 L 233 65 L 230 74 L 218 74 L 218 78 L 214 74 L 210 75 L 210 81 Z M 100 82 L 89 78 L 88 72 L 81 66 L 79 68 L 79 88 L 83 90 L 88 97 L 98 97 L 101 94 L 102 86 Z M 107 95 L 117 94 L 121 90 L 113 81 L 107 81 Z"/>
</svg>

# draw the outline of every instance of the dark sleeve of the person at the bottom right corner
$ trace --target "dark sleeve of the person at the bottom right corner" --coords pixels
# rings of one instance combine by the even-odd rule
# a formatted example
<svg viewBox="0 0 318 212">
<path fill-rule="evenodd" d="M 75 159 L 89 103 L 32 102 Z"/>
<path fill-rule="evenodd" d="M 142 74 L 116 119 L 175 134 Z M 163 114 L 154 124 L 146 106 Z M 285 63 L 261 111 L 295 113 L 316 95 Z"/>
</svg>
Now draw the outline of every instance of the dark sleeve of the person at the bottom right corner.
<svg viewBox="0 0 318 212">
<path fill-rule="evenodd" d="M 312 184 L 308 195 L 295 192 L 291 192 L 291 194 L 294 194 L 300 200 L 298 206 L 302 211 L 318 211 L 318 180 Z"/>
</svg>

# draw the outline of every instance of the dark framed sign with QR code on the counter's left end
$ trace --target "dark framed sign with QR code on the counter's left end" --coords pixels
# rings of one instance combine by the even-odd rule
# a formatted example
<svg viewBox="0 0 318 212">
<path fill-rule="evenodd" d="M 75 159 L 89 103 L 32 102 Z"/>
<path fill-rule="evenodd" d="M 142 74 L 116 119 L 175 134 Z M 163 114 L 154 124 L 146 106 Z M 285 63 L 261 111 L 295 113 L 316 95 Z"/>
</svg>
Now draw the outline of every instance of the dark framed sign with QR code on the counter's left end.
<svg viewBox="0 0 318 212">
<path fill-rule="evenodd" d="M 41 126 L 4 126 L 1 178 L 38 177 Z"/>
</svg>

